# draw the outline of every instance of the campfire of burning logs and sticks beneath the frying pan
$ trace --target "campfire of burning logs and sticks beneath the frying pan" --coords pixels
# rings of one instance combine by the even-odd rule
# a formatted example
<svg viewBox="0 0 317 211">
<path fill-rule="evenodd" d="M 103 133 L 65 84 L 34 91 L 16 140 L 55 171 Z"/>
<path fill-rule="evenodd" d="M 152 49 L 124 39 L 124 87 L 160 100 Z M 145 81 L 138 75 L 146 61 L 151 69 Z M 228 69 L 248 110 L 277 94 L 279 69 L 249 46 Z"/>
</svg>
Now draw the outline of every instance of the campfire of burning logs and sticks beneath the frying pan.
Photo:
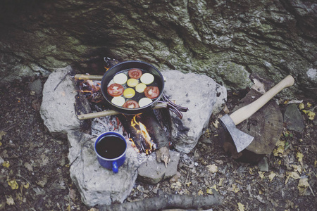
<svg viewBox="0 0 317 211">
<path fill-rule="evenodd" d="M 114 60 L 107 62 L 108 59 L 105 59 L 105 61 L 106 71 L 109 70 L 110 65 L 116 63 Z M 94 106 L 99 107 L 99 110 L 104 110 L 104 104 L 106 103 L 102 94 L 102 78 L 102 75 L 75 75 L 80 93 L 84 94 L 89 102 L 94 104 Z M 182 108 L 175 105 L 170 100 L 168 100 L 166 96 L 162 96 L 162 98 L 163 101 L 158 101 L 159 104 L 154 108 L 169 108 L 180 118 L 182 118 L 182 114 L 180 112 L 187 111 L 187 108 Z M 97 113 L 88 114 L 89 116 L 85 118 L 98 117 Z M 123 128 L 125 129 L 125 132 L 128 134 L 132 146 L 137 148 L 137 151 L 140 153 L 146 153 L 147 155 L 157 151 L 156 155 L 158 157 L 158 161 L 163 161 L 167 165 L 169 158 L 168 151 L 163 150 L 165 153 L 161 153 L 160 149 L 163 147 L 169 148 L 169 138 L 166 134 L 166 131 L 162 128 L 161 122 L 159 122 L 152 109 L 145 110 L 144 112 L 137 115 L 127 115 L 120 113 L 120 110 L 104 110 L 101 113 L 101 116 L 116 115 L 118 121 L 120 121 L 120 123 L 123 125 Z"/>
</svg>

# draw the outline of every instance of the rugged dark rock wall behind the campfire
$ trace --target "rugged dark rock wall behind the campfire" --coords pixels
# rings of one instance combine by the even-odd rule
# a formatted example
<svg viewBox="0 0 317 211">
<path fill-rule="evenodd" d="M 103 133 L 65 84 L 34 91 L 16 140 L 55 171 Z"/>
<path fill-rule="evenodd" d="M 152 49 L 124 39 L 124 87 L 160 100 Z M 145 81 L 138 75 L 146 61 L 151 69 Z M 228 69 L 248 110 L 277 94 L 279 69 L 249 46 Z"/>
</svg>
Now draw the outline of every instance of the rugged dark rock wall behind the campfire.
<svg viewBox="0 0 317 211">
<path fill-rule="evenodd" d="M 229 89 L 249 86 L 251 72 L 276 82 L 292 74 L 285 94 L 315 96 L 316 17 L 316 1 L 305 0 L 6 0 L 0 78 L 67 65 L 94 73 L 108 56 L 197 72 Z"/>
</svg>

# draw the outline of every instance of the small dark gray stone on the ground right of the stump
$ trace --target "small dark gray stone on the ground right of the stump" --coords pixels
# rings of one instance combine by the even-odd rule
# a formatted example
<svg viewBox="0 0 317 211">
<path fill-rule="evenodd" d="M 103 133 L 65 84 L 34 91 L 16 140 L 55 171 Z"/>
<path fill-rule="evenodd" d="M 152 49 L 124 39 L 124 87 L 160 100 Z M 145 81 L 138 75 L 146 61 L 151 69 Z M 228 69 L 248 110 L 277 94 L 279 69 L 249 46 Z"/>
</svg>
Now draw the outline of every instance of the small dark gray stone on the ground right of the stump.
<svg viewBox="0 0 317 211">
<path fill-rule="evenodd" d="M 284 122 L 286 123 L 287 129 L 295 132 L 303 132 L 305 128 L 304 118 L 297 108 L 296 104 L 290 104 L 286 107 L 284 113 Z"/>
</svg>

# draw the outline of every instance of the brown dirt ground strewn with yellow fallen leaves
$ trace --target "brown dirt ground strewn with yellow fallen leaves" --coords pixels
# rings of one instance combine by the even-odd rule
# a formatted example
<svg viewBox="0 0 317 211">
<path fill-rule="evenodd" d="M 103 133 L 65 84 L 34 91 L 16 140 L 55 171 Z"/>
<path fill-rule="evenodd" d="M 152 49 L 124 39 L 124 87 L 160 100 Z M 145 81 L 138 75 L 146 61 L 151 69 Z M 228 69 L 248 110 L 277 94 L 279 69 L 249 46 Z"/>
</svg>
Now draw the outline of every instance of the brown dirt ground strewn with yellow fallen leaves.
<svg viewBox="0 0 317 211">
<path fill-rule="evenodd" d="M 0 88 L 0 210 L 89 210 L 70 179 L 67 140 L 54 139 L 42 122 L 42 96 L 28 88 L 33 80 Z M 230 95 L 228 108 L 241 97 Z M 303 100 L 306 110 L 316 106 Z M 285 129 L 280 147 L 266 155 L 268 172 L 224 153 L 214 136 L 213 116 L 209 132 L 201 138 L 212 143 L 199 141 L 191 153 L 182 154 L 172 179 L 156 185 L 137 181 L 127 201 L 155 196 L 158 189 L 193 196 L 207 196 L 215 189 L 223 203 L 212 210 L 316 210 L 317 117 L 309 120 L 303 112 L 302 116 L 304 132 Z"/>
</svg>

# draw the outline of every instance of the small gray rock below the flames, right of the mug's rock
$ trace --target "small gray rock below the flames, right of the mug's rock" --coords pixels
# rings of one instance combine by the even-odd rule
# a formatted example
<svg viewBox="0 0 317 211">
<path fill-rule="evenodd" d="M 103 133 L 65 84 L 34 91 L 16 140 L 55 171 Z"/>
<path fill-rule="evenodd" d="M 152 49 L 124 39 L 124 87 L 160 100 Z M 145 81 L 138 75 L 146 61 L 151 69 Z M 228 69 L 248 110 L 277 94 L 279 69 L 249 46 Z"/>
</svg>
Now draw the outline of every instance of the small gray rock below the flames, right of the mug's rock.
<svg viewBox="0 0 317 211">
<path fill-rule="evenodd" d="M 164 179 L 173 177 L 178 170 L 180 153 L 170 151 L 170 162 L 167 167 L 163 162 L 156 161 L 156 153 L 149 155 L 146 162 L 139 166 L 138 180 L 147 184 L 157 184 Z"/>
</svg>

